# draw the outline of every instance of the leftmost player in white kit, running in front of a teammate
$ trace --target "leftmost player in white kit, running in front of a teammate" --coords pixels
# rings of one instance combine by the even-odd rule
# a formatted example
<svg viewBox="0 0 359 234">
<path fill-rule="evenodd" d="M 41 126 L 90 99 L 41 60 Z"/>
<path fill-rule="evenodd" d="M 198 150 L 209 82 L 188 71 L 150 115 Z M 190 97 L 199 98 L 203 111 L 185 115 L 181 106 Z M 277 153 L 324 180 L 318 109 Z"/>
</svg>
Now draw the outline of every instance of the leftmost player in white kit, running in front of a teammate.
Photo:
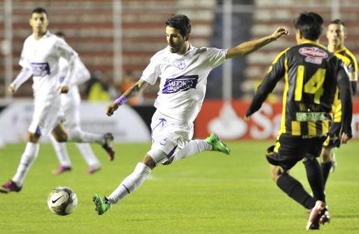
<svg viewBox="0 0 359 234">
<path fill-rule="evenodd" d="M 114 158 L 111 144 L 111 134 L 97 135 L 83 132 L 79 129 L 66 130 L 60 117 L 60 93 L 69 90 L 69 79 L 74 74 L 74 61 L 77 53 L 67 43 L 47 31 L 48 14 L 44 8 L 32 11 L 29 24 L 33 34 L 27 37 L 20 57 L 22 70 L 15 81 L 8 87 L 12 94 L 19 86 L 32 76 L 34 84 L 34 115 L 29 126 L 28 142 L 22 154 L 18 170 L 10 181 L 0 187 L 1 193 L 19 192 L 25 176 L 39 154 L 39 139 L 41 135 L 53 134 L 57 142 L 96 142 L 102 144 Z M 69 62 L 69 73 L 57 88 L 57 73 L 60 57 Z"/>
</svg>

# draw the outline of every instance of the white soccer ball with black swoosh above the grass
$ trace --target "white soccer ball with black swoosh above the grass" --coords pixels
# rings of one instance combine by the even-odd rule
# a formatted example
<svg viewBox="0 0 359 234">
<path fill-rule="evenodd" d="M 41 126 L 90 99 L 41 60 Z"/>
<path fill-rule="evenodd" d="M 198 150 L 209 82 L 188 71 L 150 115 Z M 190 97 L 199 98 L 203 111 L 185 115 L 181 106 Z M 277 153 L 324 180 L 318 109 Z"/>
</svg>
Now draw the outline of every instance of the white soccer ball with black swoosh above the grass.
<svg viewBox="0 0 359 234">
<path fill-rule="evenodd" d="M 48 208 L 58 215 L 74 212 L 77 205 L 76 193 L 68 187 L 57 187 L 48 195 Z"/>
</svg>

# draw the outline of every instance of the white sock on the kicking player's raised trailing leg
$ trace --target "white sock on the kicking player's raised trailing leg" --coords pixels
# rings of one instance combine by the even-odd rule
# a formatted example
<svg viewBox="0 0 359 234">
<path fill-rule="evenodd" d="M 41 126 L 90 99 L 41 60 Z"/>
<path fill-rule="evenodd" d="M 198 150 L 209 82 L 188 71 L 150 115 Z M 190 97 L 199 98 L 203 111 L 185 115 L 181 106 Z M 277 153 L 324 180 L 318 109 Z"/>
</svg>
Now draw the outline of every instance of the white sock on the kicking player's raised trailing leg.
<svg viewBox="0 0 359 234">
<path fill-rule="evenodd" d="M 205 140 L 203 139 L 194 139 L 191 140 L 191 142 L 189 142 L 187 144 L 187 146 L 184 146 L 184 148 L 180 151 L 178 151 L 178 153 L 175 154 L 175 158 L 173 158 L 172 163 L 175 163 L 175 161 L 181 159 L 181 158 L 188 158 L 190 156 L 194 156 L 196 153 L 200 153 L 202 151 L 211 151 L 212 150 L 212 145 L 208 144 Z"/>
</svg>

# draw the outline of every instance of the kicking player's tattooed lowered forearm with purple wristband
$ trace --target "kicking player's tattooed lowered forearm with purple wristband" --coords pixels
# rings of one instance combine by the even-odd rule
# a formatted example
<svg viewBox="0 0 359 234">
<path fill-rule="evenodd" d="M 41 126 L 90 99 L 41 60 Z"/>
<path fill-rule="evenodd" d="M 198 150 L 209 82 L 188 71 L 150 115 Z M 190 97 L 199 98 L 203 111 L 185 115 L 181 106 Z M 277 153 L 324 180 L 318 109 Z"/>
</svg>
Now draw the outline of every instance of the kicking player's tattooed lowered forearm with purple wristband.
<svg viewBox="0 0 359 234">
<path fill-rule="evenodd" d="M 112 104 L 109 104 L 106 107 L 106 114 L 107 116 L 112 116 L 114 114 L 114 111 L 118 109 L 118 106 L 121 106 L 122 104 L 126 103 L 128 99 L 137 96 L 140 92 L 142 92 L 147 86 L 149 85 L 148 82 L 140 80 L 135 83 L 131 88 L 123 92 L 123 95 L 121 97 L 118 97 Z"/>
</svg>

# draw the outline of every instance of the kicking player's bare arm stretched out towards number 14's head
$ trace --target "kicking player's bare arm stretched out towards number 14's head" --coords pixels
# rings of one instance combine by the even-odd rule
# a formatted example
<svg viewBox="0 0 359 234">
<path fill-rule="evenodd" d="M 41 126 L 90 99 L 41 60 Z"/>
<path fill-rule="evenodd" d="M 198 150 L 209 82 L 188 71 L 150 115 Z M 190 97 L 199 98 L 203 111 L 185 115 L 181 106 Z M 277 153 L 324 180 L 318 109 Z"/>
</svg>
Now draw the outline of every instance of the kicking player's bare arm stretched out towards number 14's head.
<svg viewBox="0 0 359 234">
<path fill-rule="evenodd" d="M 256 39 L 253 41 L 243 42 L 236 47 L 229 48 L 226 54 L 226 59 L 249 55 L 250 53 L 255 52 L 255 50 L 266 46 L 266 44 L 269 44 L 272 41 L 276 41 L 276 39 L 280 38 L 280 36 L 287 34 L 289 34 L 289 31 L 286 27 L 278 27 L 276 31 L 274 31 L 273 34 L 269 36 L 264 36 L 261 39 Z"/>
</svg>

